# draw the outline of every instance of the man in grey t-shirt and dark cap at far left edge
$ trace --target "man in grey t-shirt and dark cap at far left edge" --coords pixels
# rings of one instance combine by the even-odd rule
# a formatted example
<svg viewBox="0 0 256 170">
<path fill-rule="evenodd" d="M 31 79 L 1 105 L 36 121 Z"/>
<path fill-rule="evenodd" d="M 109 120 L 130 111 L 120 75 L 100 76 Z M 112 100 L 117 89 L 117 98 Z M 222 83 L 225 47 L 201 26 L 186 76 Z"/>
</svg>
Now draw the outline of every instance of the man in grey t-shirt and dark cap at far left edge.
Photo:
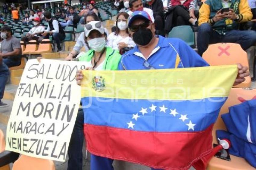
<svg viewBox="0 0 256 170">
<path fill-rule="evenodd" d="M 1 44 L 0 57 L 3 58 L 3 62 L 8 67 L 14 67 L 20 65 L 21 62 L 21 46 L 20 40 L 13 37 L 11 34 L 11 28 L 3 26 L 1 29 L 1 38 L 3 39 Z"/>
</svg>

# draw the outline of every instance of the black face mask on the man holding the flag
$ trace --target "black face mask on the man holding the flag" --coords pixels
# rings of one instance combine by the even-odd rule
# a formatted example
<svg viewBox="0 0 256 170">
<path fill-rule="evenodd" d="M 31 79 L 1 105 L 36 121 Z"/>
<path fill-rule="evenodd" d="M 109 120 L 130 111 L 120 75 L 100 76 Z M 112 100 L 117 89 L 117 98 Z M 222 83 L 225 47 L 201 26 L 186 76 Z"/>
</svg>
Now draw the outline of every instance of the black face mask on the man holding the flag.
<svg viewBox="0 0 256 170">
<path fill-rule="evenodd" d="M 138 31 L 133 33 L 133 41 L 138 45 L 147 45 L 153 38 L 153 34 L 148 28 L 139 28 Z"/>
</svg>

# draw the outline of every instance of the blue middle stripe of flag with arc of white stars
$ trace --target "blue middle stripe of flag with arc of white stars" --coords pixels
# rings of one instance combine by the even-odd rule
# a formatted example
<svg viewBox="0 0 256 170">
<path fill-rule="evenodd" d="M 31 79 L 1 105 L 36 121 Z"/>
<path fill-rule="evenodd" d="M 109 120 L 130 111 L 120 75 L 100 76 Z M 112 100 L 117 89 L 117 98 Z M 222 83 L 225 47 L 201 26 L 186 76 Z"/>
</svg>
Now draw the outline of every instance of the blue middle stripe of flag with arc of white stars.
<svg viewBox="0 0 256 170">
<path fill-rule="evenodd" d="M 214 123 L 223 97 L 149 101 L 84 97 L 84 123 L 146 132 L 196 132 Z M 217 108 L 217 110 L 216 110 Z"/>
</svg>

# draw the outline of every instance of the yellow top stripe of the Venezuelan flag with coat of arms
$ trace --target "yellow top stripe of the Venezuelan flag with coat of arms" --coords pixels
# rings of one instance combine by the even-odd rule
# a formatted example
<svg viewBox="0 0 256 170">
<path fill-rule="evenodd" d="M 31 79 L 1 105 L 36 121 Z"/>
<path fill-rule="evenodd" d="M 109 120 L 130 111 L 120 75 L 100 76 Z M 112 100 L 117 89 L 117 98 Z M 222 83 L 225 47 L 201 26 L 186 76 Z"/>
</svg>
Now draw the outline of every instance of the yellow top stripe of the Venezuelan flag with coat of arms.
<svg viewBox="0 0 256 170">
<path fill-rule="evenodd" d="M 82 97 L 193 100 L 227 97 L 237 65 L 197 68 L 83 71 Z"/>
</svg>

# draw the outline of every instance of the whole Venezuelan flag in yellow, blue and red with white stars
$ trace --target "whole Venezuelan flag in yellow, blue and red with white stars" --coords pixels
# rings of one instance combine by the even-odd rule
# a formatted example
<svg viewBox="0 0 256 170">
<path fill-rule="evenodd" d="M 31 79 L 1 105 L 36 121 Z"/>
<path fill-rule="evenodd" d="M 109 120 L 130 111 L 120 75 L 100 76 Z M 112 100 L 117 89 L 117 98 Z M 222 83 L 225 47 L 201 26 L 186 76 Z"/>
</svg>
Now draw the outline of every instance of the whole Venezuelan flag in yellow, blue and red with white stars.
<svg viewBox="0 0 256 170">
<path fill-rule="evenodd" d="M 236 65 L 83 71 L 87 149 L 154 168 L 188 169 L 211 152 Z"/>
</svg>

